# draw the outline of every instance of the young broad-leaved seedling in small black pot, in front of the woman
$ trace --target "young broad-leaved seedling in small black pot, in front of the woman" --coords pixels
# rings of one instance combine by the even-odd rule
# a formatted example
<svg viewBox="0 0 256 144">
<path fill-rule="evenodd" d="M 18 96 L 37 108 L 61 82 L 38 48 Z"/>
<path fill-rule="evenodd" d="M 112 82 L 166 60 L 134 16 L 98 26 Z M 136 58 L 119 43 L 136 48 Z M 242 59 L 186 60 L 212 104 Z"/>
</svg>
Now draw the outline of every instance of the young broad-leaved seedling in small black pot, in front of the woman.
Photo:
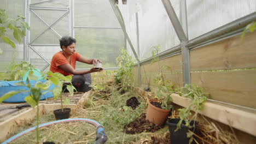
<svg viewBox="0 0 256 144">
<path fill-rule="evenodd" d="M 71 109 L 70 108 L 64 109 L 63 103 L 69 104 L 70 100 L 68 98 L 65 98 L 65 100 L 63 101 L 62 93 L 67 89 L 71 96 L 74 94 L 75 87 L 72 85 L 72 82 L 71 82 L 72 76 L 71 75 L 63 76 L 60 73 L 52 73 L 51 71 L 48 72 L 48 75 L 54 75 L 61 78 L 61 81 L 59 81 L 59 83 L 54 83 L 55 85 L 57 85 L 57 87 L 53 88 L 54 99 L 56 100 L 59 97 L 61 98 L 61 109 L 57 109 L 53 111 L 55 118 L 56 119 L 69 118 Z M 56 80 L 54 80 L 55 77 L 49 77 L 48 79 L 56 82 Z M 63 86 L 64 88 L 62 88 Z"/>
</svg>

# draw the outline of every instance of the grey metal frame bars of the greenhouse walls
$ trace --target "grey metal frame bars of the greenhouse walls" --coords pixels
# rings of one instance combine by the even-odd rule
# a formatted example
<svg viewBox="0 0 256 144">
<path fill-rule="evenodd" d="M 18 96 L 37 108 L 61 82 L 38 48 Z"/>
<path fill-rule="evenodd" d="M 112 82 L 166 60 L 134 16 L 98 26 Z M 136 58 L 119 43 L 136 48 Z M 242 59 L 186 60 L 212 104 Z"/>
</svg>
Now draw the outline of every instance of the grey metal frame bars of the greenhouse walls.
<svg viewBox="0 0 256 144">
<path fill-rule="evenodd" d="M 142 65 L 149 64 L 152 62 L 152 59 L 155 57 L 159 57 L 160 59 L 165 59 L 173 56 L 177 56 L 181 54 L 182 56 L 182 71 L 178 71 L 175 73 L 182 73 L 182 85 L 191 83 L 191 62 L 190 62 L 190 51 L 195 50 L 197 48 L 208 46 L 211 44 L 215 44 L 219 41 L 229 39 L 232 37 L 235 37 L 237 35 L 240 35 L 245 27 L 251 23 L 252 21 L 256 21 L 256 11 L 253 13 L 250 13 L 246 16 L 240 17 L 239 19 L 236 19 L 234 21 L 231 21 L 229 23 L 226 23 L 223 26 L 214 28 L 210 32 L 200 34 L 197 37 L 194 37 L 193 39 L 189 39 L 189 26 L 188 26 L 188 9 L 187 9 L 187 0 L 180 0 L 180 13 L 179 15 L 176 14 L 176 10 L 174 9 L 172 5 L 172 1 L 170 0 L 161 0 L 161 4 L 164 5 L 166 14 L 168 16 L 168 20 L 171 21 L 171 24 L 174 28 L 175 33 L 177 34 L 177 37 L 179 39 L 179 44 L 169 47 L 166 50 L 163 50 L 159 53 L 158 56 L 155 57 L 141 57 L 141 39 L 140 35 L 141 32 L 139 29 L 143 27 L 142 25 L 139 25 L 139 21 L 141 20 L 139 17 L 139 12 L 137 11 L 135 13 L 135 29 L 133 31 L 127 30 L 127 23 L 125 22 L 125 18 L 123 17 L 123 11 L 121 11 L 119 8 L 119 5 L 115 3 L 114 0 L 109 0 L 109 5 L 111 6 L 115 17 L 118 20 L 118 23 L 120 27 L 108 27 L 108 26 L 76 26 L 74 23 L 74 1 L 75 0 L 69 0 L 69 7 L 47 7 L 47 6 L 38 6 L 38 4 L 42 3 L 48 3 L 53 2 L 56 0 L 46 0 L 46 1 L 40 1 L 37 3 L 31 4 L 31 0 L 24 0 L 25 2 L 25 17 L 27 17 L 26 22 L 29 26 L 31 26 L 31 14 L 37 16 L 37 18 L 46 25 L 46 28 L 44 31 L 39 33 L 36 37 L 34 37 L 31 40 L 31 31 L 26 31 L 27 36 L 24 39 L 24 61 L 31 61 L 31 51 L 36 53 L 40 58 L 42 58 L 46 65 L 42 68 L 42 71 L 46 70 L 49 65 L 50 61 L 44 57 L 38 50 L 34 48 L 34 46 L 59 46 L 58 44 L 33 44 L 33 41 L 36 41 L 40 35 L 43 35 L 46 31 L 52 31 L 58 38 L 61 38 L 63 35 L 55 31 L 55 24 L 59 22 L 63 17 L 68 16 L 68 35 L 75 37 L 75 29 L 78 28 L 94 28 L 94 29 L 119 29 L 124 34 L 124 47 L 130 52 L 130 54 L 133 56 L 133 58 L 136 59 L 136 65 L 137 71 L 137 82 L 138 86 L 142 87 L 142 73 L 141 73 L 141 67 Z M 129 0 L 128 0 L 129 1 Z M 54 22 L 48 23 L 46 22 L 42 17 L 38 15 L 34 10 L 58 10 L 58 11 L 64 11 L 65 13 L 59 16 Z M 126 17 L 127 18 L 127 17 Z M 132 39 L 131 33 L 136 34 L 136 39 Z M 132 41 L 133 40 L 133 41 Z M 88 68 L 86 68 L 88 69 Z M 116 67 L 108 67 L 104 68 L 106 70 L 113 70 L 118 69 Z M 245 68 L 246 69 L 246 68 Z M 77 70 L 85 70 L 82 68 L 77 68 Z M 198 70 L 202 72 L 203 70 Z M 240 104 L 234 104 L 234 103 L 228 103 L 226 101 L 222 100 L 214 100 L 214 99 L 207 99 L 208 101 L 211 101 L 213 103 L 218 104 L 224 104 L 231 107 L 237 107 L 238 109 L 248 110 L 255 112 L 255 107 L 252 106 L 245 106 Z"/>
</svg>

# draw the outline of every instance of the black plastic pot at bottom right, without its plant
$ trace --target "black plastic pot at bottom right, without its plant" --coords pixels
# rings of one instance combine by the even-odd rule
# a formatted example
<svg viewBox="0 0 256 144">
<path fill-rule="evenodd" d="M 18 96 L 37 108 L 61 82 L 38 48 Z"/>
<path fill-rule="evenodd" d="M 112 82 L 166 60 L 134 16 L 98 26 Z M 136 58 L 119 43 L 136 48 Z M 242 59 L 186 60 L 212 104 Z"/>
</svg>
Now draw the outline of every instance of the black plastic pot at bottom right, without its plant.
<svg viewBox="0 0 256 144">
<path fill-rule="evenodd" d="M 179 118 L 172 118 L 172 119 L 168 119 L 168 121 L 166 122 L 170 130 L 171 144 L 188 144 L 189 143 L 189 138 L 187 137 L 188 130 L 193 131 L 194 133 L 197 127 L 197 122 L 191 121 L 190 125 L 191 126 L 194 125 L 194 122 L 195 122 L 195 127 L 189 129 L 187 126 L 185 126 L 185 121 L 183 121 L 181 124 L 181 129 L 178 129 L 177 131 L 175 131 L 179 120 L 180 120 Z M 195 143 L 194 140 L 192 143 Z"/>
</svg>

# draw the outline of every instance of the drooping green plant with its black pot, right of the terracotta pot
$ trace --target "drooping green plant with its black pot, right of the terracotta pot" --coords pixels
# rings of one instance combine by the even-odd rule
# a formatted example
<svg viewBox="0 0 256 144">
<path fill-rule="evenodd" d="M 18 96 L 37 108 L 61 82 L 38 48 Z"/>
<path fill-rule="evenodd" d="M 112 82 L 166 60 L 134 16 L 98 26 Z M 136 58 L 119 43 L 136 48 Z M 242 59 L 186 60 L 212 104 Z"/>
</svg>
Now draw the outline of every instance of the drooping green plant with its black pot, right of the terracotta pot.
<svg viewBox="0 0 256 144">
<path fill-rule="evenodd" d="M 202 91 L 194 83 L 185 85 L 179 89 L 178 94 L 190 98 L 192 102 L 188 107 L 179 109 L 179 119 L 168 119 L 171 143 L 194 143 L 193 133 L 196 130 L 197 113 L 203 109 L 202 104 L 206 101 L 208 93 Z M 194 111 L 194 113 L 191 112 Z"/>
</svg>

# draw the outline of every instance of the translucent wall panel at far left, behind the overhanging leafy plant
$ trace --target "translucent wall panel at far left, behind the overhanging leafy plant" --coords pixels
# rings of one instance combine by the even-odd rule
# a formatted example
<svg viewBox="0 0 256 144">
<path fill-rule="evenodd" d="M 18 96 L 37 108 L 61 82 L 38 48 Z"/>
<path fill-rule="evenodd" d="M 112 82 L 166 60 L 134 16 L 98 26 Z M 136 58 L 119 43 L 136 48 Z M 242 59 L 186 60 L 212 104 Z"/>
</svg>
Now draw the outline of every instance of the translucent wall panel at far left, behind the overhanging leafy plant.
<svg viewBox="0 0 256 144">
<path fill-rule="evenodd" d="M 25 1 L 1 0 L 0 9 L 5 9 L 11 19 L 17 19 L 18 15 L 24 16 Z M 20 24 L 18 23 L 18 25 Z M 3 53 L 0 54 L 0 70 L 11 70 L 11 63 L 17 64 L 23 60 L 23 40 L 21 40 L 21 44 L 19 44 L 13 37 L 13 31 L 9 28 L 6 30 L 5 35 L 14 41 L 16 48 L 14 49 L 10 45 L 5 44 L 4 41 L 0 39 L 0 48 L 3 50 Z"/>
</svg>

